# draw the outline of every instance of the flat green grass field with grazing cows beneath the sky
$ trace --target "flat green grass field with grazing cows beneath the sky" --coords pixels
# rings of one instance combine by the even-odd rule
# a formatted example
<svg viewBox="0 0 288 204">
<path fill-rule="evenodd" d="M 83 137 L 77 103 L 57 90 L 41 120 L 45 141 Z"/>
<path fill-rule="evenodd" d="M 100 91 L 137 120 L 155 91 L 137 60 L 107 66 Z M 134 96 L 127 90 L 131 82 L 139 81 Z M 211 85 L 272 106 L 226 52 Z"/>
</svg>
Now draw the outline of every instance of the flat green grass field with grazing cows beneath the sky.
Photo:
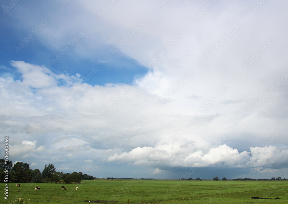
<svg viewBox="0 0 288 204">
<path fill-rule="evenodd" d="M 5 188 L 6 183 L 1 183 Z M 9 201 L 30 203 L 288 203 L 288 181 L 84 180 L 84 184 L 9 183 Z M 34 190 L 35 186 L 41 190 Z M 65 186 L 67 190 L 62 190 Z M 75 190 L 78 186 L 79 190 Z M 4 190 L 3 190 L 4 191 Z M 2 192 L 3 192 L 2 191 Z M 251 199 L 251 197 L 275 198 Z"/>
</svg>

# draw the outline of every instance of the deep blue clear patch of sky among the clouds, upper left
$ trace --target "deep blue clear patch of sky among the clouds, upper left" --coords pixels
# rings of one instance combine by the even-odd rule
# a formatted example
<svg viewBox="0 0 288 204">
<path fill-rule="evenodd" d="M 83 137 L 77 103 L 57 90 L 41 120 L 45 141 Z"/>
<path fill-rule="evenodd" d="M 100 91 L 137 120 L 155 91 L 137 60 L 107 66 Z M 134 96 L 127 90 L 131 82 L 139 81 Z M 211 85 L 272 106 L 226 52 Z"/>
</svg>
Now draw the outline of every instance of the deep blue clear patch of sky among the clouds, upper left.
<svg viewBox="0 0 288 204">
<path fill-rule="evenodd" d="M 11 2 L 7 1 L 6 3 L 9 5 Z M 73 49 L 77 49 L 77 44 L 81 44 L 82 37 L 85 38 L 83 31 L 80 31 L 82 32 L 82 35 L 79 35 L 81 37 L 80 39 L 77 38 L 79 33 L 75 33 L 75 37 L 69 38 L 67 43 L 64 43 L 60 49 L 45 46 L 43 39 L 39 39 L 38 36 L 41 35 L 41 31 L 43 32 L 51 23 L 55 23 L 45 18 L 45 16 L 48 15 L 46 14 L 46 12 L 49 11 L 48 8 L 42 8 L 43 2 L 41 3 L 39 1 L 35 1 L 34 3 L 30 2 L 27 5 L 23 5 L 22 3 L 19 6 L 19 4 L 15 5 L 11 11 L 7 13 L 3 12 L 5 16 L 3 14 L 1 18 L 3 32 L 1 32 L 0 35 L 1 39 L 5 39 L 1 41 L 1 47 L 3 48 L 1 49 L 2 65 L 11 69 L 9 64 L 10 60 L 26 61 L 32 64 L 45 65 L 55 72 L 67 72 L 71 75 L 79 73 L 82 76 L 86 76 L 91 68 L 96 68 L 98 74 L 88 82 L 91 85 L 132 82 L 134 76 L 143 76 L 147 72 L 148 69 L 146 67 L 121 52 L 112 55 L 110 50 L 113 46 L 101 42 L 93 48 L 93 52 L 95 52 L 96 55 L 94 55 L 92 59 L 85 56 L 75 57 L 75 53 L 73 53 L 75 50 Z M 31 27 L 21 27 L 21 25 L 19 25 L 20 14 L 17 15 L 17 12 L 22 12 L 23 7 L 27 10 L 33 9 L 34 7 L 44 9 L 45 12 L 37 16 L 37 18 L 43 17 L 40 19 L 39 24 Z M 59 12 L 62 12 L 65 8 L 63 7 L 59 10 Z M 15 13 L 16 15 L 12 15 Z M 67 52 L 65 51 L 66 46 L 69 48 L 69 50 L 66 50 Z M 61 50 L 64 50 L 63 52 L 65 52 L 65 54 L 59 58 L 59 60 L 52 61 L 52 59 L 56 58 L 56 55 L 61 53 Z M 1 73 L 5 72 L 7 71 L 1 70 Z"/>
</svg>

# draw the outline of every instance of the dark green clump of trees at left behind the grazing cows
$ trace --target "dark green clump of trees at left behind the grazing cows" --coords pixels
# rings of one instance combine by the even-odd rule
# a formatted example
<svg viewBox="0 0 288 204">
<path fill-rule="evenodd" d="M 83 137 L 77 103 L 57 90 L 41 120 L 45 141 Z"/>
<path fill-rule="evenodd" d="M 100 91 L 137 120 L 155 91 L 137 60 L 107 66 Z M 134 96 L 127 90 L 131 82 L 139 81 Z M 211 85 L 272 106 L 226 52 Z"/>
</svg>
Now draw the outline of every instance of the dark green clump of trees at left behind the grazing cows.
<svg viewBox="0 0 288 204">
<path fill-rule="evenodd" d="M 4 168 L 6 167 L 6 168 Z M 7 168 L 9 167 L 9 168 Z M 53 164 L 45 164 L 43 171 L 30 169 L 28 163 L 5 161 L 0 159 L 0 182 L 4 182 L 5 169 L 9 171 L 9 182 L 12 183 L 80 183 L 82 180 L 92 180 L 94 177 L 82 172 L 63 173 L 56 171 Z"/>
</svg>

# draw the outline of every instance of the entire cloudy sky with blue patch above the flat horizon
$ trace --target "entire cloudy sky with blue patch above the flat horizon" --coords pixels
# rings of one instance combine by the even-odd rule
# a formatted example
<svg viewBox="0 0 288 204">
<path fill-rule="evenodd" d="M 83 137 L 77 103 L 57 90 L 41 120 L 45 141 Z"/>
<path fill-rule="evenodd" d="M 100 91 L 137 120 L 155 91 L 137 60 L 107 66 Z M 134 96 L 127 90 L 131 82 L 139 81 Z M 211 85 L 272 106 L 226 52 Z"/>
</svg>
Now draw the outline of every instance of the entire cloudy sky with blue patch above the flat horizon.
<svg viewBox="0 0 288 204">
<path fill-rule="evenodd" d="M 287 1 L 1 1 L 0 151 L 120 178 L 288 178 Z"/>
</svg>

